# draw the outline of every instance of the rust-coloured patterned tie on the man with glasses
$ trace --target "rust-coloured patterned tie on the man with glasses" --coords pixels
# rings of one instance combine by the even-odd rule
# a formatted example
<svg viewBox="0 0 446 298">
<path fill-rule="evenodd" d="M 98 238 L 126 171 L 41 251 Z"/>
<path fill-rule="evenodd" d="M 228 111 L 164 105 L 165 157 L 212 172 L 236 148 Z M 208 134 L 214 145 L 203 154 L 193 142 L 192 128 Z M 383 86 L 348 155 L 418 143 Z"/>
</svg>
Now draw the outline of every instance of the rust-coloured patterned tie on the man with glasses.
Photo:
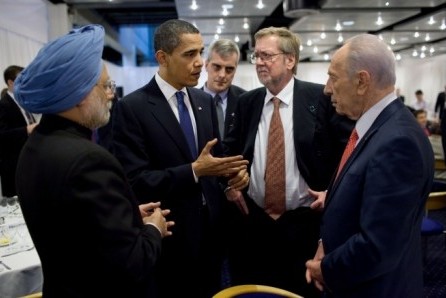
<svg viewBox="0 0 446 298">
<path fill-rule="evenodd" d="M 285 212 L 285 136 L 280 120 L 280 99 L 274 97 L 268 132 L 265 169 L 265 212 L 277 219 Z"/>
</svg>

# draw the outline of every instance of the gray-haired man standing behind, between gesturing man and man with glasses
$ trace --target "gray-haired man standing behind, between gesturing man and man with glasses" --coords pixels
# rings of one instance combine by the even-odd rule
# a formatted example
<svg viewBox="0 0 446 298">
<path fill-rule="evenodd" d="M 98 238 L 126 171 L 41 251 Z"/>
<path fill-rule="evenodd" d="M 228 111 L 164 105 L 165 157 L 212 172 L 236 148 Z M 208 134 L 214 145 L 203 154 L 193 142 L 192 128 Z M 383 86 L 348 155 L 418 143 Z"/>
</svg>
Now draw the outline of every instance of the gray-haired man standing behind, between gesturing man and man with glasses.
<svg viewBox="0 0 446 298">
<path fill-rule="evenodd" d="M 230 39 L 219 39 L 209 46 L 205 61 L 208 78 L 202 90 L 214 99 L 221 139 L 224 139 L 233 122 L 237 97 L 246 91 L 232 85 L 239 59 L 240 50 L 237 44 Z"/>
</svg>

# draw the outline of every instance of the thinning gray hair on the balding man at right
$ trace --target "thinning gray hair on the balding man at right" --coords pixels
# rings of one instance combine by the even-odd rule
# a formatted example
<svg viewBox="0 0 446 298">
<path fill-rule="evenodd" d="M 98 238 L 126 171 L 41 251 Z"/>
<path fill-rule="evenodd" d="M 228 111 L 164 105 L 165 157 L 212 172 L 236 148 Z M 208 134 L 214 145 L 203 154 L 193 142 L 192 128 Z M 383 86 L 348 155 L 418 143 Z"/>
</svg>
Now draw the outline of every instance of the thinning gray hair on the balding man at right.
<svg viewBox="0 0 446 298">
<path fill-rule="evenodd" d="M 350 78 L 358 71 L 366 70 L 378 88 L 386 88 L 396 82 L 395 55 L 377 36 L 360 34 L 348 39 L 347 69 Z"/>
</svg>

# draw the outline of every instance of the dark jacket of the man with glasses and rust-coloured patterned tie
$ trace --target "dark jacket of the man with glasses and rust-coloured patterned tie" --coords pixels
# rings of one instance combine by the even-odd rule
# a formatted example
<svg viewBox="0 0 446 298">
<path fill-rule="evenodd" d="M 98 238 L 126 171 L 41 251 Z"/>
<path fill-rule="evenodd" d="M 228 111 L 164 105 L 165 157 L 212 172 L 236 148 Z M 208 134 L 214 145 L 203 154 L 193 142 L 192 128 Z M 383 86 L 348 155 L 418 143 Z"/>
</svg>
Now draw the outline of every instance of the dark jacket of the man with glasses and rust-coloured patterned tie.
<svg viewBox="0 0 446 298">
<path fill-rule="evenodd" d="M 299 171 L 313 190 L 326 190 L 353 122 L 336 114 L 323 85 L 295 79 L 294 145 Z M 252 164 L 254 143 L 266 95 L 264 87 L 243 93 L 224 140 L 226 153 L 243 154 Z"/>
</svg>

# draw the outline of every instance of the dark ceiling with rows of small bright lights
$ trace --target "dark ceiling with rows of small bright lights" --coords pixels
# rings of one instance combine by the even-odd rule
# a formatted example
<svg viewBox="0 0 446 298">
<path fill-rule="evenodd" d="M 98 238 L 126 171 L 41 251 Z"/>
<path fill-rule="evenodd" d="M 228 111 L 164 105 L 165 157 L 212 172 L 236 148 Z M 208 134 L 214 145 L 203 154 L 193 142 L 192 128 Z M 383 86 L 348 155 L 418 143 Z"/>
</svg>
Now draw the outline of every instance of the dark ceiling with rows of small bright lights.
<svg viewBox="0 0 446 298">
<path fill-rule="evenodd" d="M 116 31 L 123 25 L 184 19 L 200 29 L 205 45 L 215 38 L 231 38 L 247 51 L 258 29 L 285 26 L 299 35 L 304 62 L 329 60 L 345 39 L 363 32 L 378 34 L 401 58 L 446 54 L 444 0 L 50 1 L 66 3 L 77 15 L 95 15 Z"/>
</svg>

